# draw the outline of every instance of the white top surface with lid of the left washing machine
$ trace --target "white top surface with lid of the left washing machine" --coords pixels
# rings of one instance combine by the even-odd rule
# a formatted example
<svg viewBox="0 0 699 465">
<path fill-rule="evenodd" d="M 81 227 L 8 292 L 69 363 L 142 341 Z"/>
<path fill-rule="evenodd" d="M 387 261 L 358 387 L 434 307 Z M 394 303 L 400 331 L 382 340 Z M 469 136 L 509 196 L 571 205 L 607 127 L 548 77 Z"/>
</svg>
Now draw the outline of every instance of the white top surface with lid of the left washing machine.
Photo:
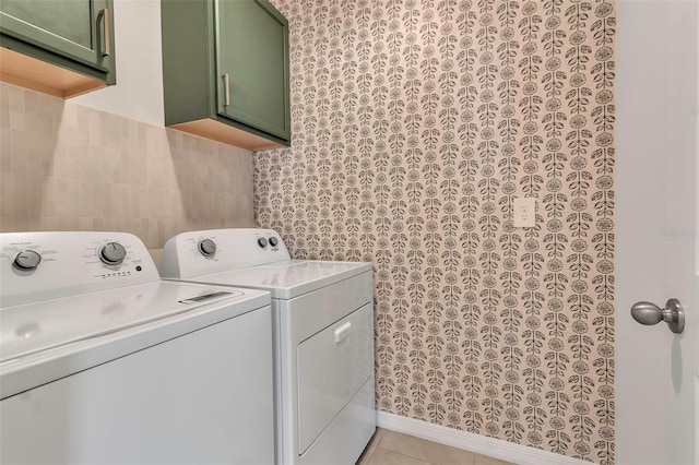
<svg viewBox="0 0 699 465">
<path fill-rule="evenodd" d="M 269 303 L 248 289 L 156 282 L 0 309 L 0 362 L 164 320 L 221 302 L 245 313 Z M 212 308 L 212 310 L 214 309 Z"/>
</svg>

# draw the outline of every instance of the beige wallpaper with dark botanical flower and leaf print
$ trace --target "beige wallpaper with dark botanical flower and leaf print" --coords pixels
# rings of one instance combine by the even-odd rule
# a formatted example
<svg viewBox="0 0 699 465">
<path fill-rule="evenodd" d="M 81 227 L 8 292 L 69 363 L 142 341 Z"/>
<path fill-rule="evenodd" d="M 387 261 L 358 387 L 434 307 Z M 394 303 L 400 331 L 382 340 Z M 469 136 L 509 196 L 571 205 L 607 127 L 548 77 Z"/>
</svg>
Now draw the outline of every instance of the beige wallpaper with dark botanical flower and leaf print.
<svg viewBox="0 0 699 465">
<path fill-rule="evenodd" d="M 256 222 L 374 263 L 378 407 L 613 463 L 615 4 L 274 3 L 293 143 Z"/>
</svg>

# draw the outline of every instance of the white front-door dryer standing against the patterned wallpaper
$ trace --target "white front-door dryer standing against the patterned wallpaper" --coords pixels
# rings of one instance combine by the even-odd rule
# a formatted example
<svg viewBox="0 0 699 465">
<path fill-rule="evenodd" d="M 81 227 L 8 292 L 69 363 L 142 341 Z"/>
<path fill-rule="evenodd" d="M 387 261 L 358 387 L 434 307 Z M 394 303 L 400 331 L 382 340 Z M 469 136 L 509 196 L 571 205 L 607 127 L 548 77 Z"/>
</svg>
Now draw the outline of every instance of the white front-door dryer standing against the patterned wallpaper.
<svg viewBox="0 0 699 465">
<path fill-rule="evenodd" d="M 217 229 L 168 240 L 161 274 L 269 290 L 277 462 L 357 461 L 376 430 L 370 263 L 291 260 L 273 230 Z"/>
</svg>

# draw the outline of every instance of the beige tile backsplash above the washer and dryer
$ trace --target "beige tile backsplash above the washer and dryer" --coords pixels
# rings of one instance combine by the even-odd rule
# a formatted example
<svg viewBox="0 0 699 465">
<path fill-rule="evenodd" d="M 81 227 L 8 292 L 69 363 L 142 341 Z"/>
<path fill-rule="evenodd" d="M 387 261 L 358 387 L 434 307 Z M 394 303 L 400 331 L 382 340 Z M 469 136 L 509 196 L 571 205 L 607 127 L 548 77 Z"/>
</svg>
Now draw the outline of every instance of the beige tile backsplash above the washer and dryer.
<svg viewBox="0 0 699 465">
<path fill-rule="evenodd" d="M 241 148 L 0 83 L 0 230 L 250 227 Z"/>
</svg>

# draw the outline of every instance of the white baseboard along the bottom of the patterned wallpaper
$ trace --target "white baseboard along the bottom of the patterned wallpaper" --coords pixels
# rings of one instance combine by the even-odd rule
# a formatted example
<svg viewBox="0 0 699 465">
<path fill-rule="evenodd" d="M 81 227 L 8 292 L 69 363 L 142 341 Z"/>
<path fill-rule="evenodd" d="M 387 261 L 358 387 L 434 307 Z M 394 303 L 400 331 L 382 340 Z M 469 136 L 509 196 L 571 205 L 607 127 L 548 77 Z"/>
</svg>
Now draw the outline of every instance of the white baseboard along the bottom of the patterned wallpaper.
<svg viewBox="0 0 699 465">
<path fill-rule="evenodd" d="M 590 462 L 571 458 L 553 452 L 495 438 L 460 431 L 414 418 L 386 412 L 377 413 L 377 427 L 414 436 L 476 454 L 487 455 L 520 465 L 590 465 Z"/>
</svg>

